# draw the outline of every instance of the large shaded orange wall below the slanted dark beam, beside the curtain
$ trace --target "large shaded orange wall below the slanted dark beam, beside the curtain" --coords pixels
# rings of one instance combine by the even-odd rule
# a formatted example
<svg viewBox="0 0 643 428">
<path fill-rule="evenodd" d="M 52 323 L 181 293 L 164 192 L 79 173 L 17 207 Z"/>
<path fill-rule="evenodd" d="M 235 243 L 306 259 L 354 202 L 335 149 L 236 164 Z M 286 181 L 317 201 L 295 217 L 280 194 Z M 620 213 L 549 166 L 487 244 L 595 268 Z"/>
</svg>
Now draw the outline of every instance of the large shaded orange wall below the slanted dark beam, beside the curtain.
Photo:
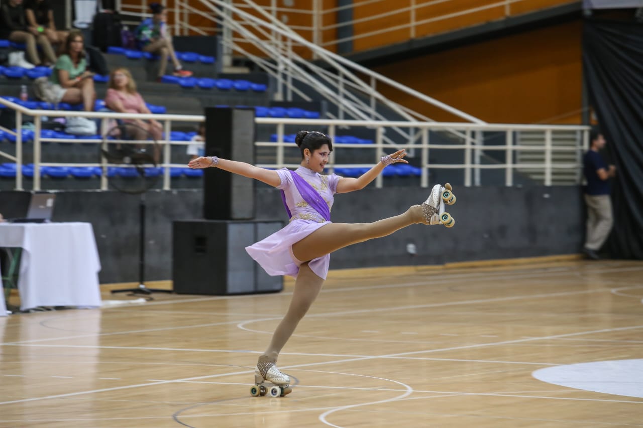
<svg viewBox="0 0 643 428">
<path fill-rule="evenodd" d="M 484 121 L 580 123 L 581 25 L 568 22 L 374 71 Z M 394 89 L 381 92 L 433 120 L 461 121 Z"/>
</svg>

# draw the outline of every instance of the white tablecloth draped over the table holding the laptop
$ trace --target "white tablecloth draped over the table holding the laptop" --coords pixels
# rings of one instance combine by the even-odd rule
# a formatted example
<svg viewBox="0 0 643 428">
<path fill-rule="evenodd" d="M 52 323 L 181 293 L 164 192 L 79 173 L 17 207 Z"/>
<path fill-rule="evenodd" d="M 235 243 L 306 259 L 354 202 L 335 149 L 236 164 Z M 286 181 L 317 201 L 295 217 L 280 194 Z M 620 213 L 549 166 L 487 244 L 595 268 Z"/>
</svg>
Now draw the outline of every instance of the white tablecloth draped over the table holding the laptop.
<svg viewBox="0 0 643 428">
<path fill-rule="evenodd" d="M 21 310 L 100 306 L 100 260 L 90 223 L 0 224 L 0 247 L 23 248 Z"/>
</svg>

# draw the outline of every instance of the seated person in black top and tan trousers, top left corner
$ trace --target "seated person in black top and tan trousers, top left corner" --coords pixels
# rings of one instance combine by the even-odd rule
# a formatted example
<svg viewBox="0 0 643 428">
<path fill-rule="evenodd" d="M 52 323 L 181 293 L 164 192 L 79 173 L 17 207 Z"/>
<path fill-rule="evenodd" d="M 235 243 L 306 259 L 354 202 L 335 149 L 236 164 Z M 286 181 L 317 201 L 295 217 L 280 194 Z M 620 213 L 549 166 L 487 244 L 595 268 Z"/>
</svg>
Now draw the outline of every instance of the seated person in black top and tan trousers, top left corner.
<svg viewBox="0 0 643 428">
<path fill-rule="evenodd" d="M 49 39 L 39 31 L 38 26 L 30 26 L 24 14 L 23 0 L 5 0 L 0 6 L 0 39 L 9 39 L 12 42 L 26 44 L 27 59 L 23 57 L 11 61 L 12 66 L 33 68 L 34 64 L 41 64 L 36 43 L 41 47 L 46 57 L 43 65 L 54 64 L 56 55 L 51 48 Z"/>
</svg>

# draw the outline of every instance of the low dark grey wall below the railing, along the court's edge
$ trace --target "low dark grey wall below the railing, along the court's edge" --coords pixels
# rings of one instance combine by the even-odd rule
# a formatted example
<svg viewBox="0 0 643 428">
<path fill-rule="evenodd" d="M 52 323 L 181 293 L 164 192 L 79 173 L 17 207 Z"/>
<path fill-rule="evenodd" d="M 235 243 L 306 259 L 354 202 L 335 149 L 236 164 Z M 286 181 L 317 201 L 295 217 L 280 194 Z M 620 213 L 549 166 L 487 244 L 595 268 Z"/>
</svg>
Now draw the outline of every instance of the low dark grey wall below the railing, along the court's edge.
<svg viewBox="0 0 643 428">
<path fill-rule="evenodd" d="M 335 222 L 371 222 L 396 215 L 424 201 L 427 189 L 367 188 L 336 195 Z M 577 187 L 456 188 L 449 207 L 452 229 L 414 225 L 379 240 L 341 249 L 331 256 L 331 269 L 383 265 L 426 265 L 548 254 L 577 253 L 583 238 L 583 204 Z M 150 191 L 147 207 L 146 280 L 172 278 L 172 220 L 201 218 L 201 190 Z M 260 186 L 258 220 L 284 220 L 281 198 Z M 102 283 L 138 280 L 140 198 L 117 192 L 61 192 L 55 221 L 86 221 L 94 227 Z M 19 217 L 26 212 L 24 192 L 0 192 L 0 212 Z M 1 233 L 1 229 L 0 229 Z M 417 255 L 406 253 L 406 245 Z M 243 254 L 246 256 L 246 254 Z"/>
</svg>

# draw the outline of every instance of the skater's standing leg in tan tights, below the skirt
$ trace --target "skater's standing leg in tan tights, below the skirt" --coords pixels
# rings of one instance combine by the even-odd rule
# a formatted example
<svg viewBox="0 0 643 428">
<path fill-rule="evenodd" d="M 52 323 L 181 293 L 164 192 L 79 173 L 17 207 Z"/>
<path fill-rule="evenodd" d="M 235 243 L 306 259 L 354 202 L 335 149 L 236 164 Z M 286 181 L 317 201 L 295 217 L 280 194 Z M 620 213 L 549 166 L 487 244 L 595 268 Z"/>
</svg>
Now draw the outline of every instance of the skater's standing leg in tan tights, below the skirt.
<svg viewBox="0 0 643 428">
<path fill-rule="evenodd" d="M 299 267 L 299 274 L 294 283 L 293 299 L 288 312 L 277 326 L 273 339 L 266 353 L 259 358 L 259 362 L 275 362 L 277 360 L 279 352 L 290 339 L 299 321 L 308 312 L 312 302 L 317 298 L 321 285 L 323 285 L 323 280 L 311 271 L 308 263 L 303 263 Z"/>
</svg>

